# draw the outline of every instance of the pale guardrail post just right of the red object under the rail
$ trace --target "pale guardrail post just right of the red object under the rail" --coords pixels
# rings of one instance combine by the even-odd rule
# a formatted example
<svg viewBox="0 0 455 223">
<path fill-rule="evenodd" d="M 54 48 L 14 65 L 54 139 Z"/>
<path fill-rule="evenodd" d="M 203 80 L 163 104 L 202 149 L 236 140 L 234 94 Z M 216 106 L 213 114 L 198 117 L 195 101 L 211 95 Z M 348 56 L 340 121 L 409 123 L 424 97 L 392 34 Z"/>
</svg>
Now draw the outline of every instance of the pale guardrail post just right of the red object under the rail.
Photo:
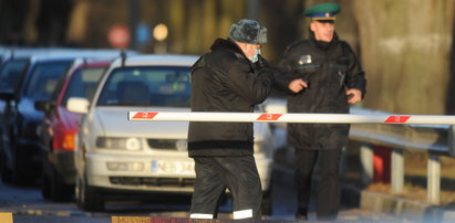
<svg viewBox="0 0 455 223">
<path fill-rule="evenodd" d="M 401 149 L 392 149 L 392 193 L 401 193 L 404 188 L 404 159 Z"/>
</svg>

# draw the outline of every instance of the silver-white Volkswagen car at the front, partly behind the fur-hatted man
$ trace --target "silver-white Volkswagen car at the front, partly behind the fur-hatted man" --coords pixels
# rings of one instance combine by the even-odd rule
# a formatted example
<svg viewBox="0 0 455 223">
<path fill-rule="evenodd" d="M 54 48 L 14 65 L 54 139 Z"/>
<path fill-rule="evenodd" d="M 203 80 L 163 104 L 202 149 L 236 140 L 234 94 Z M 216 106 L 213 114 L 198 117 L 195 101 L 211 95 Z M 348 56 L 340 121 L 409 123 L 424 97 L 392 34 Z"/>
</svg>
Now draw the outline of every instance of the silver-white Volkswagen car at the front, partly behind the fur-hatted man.
<svg viewBox="0 0 455 223">
<path fill-rule="evenodd" d="M 104 209 L 105 194 L 192 193 L 194 161 L 188 158 L 188 121 L 130 121 L 128 112 L 189 112 L 193 55 L 133 55 L 117 59 L 101 77 L 92 104 L 70 98 L 68 109 L 85 114 L 75 142 L 76 202 Z M 255 157 L 271 209 L 272 135 L 255 124 Z"/>
</svg>

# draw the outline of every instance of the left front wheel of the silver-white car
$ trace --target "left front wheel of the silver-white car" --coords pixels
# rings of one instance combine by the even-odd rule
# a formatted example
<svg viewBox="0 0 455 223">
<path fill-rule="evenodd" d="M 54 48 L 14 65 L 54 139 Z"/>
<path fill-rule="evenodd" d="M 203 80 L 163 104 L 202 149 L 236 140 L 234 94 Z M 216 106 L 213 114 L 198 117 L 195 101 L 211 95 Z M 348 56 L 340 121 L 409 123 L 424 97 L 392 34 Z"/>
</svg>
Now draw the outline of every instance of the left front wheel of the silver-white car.
<svg viewBox="0 0 455 223">
<path fill-rule="evenodd" d="M 104 195 L 100 192 L 94 192 L 86 181 L 77 177 L 76 187 L 76 203 L 83 211 L 103 211 L 104 210 Z"/>
</svg>

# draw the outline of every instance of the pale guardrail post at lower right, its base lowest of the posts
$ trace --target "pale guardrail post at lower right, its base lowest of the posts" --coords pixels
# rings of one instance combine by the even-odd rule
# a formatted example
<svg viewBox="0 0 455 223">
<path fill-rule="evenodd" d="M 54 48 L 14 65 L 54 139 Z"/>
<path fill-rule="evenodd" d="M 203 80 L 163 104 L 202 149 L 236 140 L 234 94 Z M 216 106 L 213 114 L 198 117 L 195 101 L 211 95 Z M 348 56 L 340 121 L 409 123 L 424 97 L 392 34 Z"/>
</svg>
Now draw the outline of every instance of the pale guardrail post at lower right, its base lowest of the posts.
<svg viewBox="0 0 455 223">
<path fill-rule="evenodd" d="M 441 162 L 436 155 L 428 155 L 426 200 L 432 204 L 440 204 L 441 192 Z"/>
</svg>

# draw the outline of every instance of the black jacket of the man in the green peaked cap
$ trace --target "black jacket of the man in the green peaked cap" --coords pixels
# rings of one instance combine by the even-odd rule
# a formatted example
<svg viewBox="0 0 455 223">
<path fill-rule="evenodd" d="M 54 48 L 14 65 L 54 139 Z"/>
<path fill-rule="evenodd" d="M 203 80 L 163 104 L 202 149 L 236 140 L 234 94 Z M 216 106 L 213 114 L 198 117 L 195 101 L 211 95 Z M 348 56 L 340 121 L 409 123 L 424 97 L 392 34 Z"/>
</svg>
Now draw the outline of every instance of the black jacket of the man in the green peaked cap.
<svg viewBox="0 0 455 223">
<path fill-rule="evenodd" d="M 356 88 L 365 94 L 364 72 L 355 54 L 344 41 L 309 40 L 290 45 L 278 63 L 277 85 L 288 91 L 288 113 L 347 114 L 345 89 Z M 298 94 L 287 89 L 290 81 L 302 78 L 309 86 Z M 345 145 L 350 125 L 288 124 L 289 142 L 302 149 L 337 149 Z"/>
</svg>

